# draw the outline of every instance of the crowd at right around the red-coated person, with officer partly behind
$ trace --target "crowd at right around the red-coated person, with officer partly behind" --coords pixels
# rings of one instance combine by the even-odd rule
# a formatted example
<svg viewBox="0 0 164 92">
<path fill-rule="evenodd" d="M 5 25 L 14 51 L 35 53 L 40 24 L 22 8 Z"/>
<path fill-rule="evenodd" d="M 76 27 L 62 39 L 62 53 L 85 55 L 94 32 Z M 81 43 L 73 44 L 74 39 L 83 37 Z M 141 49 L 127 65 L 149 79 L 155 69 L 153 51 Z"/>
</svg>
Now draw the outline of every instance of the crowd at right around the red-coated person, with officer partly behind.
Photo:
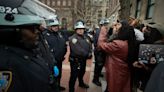
<svg viewBox="0 0 164 92">
<path fill-rule="evenodd" d="M 140 44 L 163 44 L 162 34 L 156 28 L 140 24 L 140 21 L 134 18 L 118 20 L 110 27 L 109 20 L 103 20 L 103 25 L 100 21 L 100 30 L 97 31 L 97 28 L 95 30 L 97 32 L 94 52 L 96 64 L 93 83 L 101 86 L 99 77 L 96 76 L 101 74 L 98 65 L 99 67 L 104 65 L 107 81 L 105 92 L 137 92 L 137 88 L 142 91 L 146 88 L 145 91 L 149 92 L 150 89 L 153 89 L 151 86 L 154 84 L 151 82 L 151 86 L 146 87 L 146 85 L 158 63 L 154 59 L 150 59 L 149 63 L 140 62 L 138 60 L 139 46 Z M 99 61 L 101 62 L 99 63 Z M 103 64 L 104 62 L 105 64 Z M 158 73 L 161 74 L 162 70 Z M 153 78 L 155 79 L 157 76 Z M 162 92 L 162 87 L 159 89 L 158 87 L 156 86 L 151 92 Z"/>
</svg>

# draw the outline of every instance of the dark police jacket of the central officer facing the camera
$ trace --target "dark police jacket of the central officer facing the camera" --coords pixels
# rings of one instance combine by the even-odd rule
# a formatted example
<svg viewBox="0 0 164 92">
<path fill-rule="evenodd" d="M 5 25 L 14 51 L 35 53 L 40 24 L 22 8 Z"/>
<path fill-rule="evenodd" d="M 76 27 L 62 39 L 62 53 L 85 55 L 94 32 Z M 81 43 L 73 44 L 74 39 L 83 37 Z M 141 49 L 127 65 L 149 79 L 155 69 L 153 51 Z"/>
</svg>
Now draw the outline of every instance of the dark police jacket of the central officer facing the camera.
<svg viewBox="0 0 164 92">
<path fill-rule="evenodd" d="M 71 57 L 88 58 L 92 53 L 91 43 L 85 35 L 74 34 L 69 38 L 69 45 Z"/>
</svg>

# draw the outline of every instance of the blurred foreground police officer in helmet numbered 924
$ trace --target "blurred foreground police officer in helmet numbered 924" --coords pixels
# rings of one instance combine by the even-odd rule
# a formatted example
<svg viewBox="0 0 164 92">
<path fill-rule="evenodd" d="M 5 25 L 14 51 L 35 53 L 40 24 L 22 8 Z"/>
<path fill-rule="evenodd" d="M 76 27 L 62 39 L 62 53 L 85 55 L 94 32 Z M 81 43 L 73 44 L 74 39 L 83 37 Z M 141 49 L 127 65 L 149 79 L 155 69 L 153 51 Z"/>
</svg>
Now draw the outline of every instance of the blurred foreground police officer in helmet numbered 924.
<svg viewBox="0 0 164 92">
<path fill-rule="evenodd" d="M 0 92 L 52 92 L 51 70 L 33 51 L 43 19 L 18 11 L 22 0 L 0 2 Z"/>
</svg>

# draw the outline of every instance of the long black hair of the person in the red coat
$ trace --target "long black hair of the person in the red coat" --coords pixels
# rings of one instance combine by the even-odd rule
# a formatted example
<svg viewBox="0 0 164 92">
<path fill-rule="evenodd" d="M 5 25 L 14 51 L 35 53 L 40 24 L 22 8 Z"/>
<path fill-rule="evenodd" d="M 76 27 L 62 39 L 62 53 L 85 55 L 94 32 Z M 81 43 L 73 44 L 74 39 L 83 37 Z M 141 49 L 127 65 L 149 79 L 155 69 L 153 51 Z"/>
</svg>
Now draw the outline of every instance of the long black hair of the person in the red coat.
<svg viewBox="0 0 164 92">
<path fill-rule="evenodd" d="M 122 27 L 118 32 L 118 39 L 128 41 L 127 62 L 128 64 L 132 64 L 132 62 L 135 60 L 135 49 L 137 46 L 134 28 L 131 27 L 126 20 L 122 20 L 120 23 L 122 24 Z"/>
</svg>

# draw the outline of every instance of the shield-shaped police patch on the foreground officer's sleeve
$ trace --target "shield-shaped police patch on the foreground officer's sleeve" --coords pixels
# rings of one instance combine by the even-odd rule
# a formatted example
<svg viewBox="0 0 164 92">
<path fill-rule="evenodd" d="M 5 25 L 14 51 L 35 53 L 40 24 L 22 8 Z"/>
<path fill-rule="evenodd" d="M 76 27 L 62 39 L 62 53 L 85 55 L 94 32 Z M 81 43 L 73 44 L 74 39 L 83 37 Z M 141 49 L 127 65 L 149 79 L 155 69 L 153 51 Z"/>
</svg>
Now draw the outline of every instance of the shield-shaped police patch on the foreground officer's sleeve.
<svg viewBox="0 0 164 92">
<path fill-rule="evenodd" d="M 12 82 L 11 71 L 0 71 L 0 92 L 7 92 Z"/>
</svg>

